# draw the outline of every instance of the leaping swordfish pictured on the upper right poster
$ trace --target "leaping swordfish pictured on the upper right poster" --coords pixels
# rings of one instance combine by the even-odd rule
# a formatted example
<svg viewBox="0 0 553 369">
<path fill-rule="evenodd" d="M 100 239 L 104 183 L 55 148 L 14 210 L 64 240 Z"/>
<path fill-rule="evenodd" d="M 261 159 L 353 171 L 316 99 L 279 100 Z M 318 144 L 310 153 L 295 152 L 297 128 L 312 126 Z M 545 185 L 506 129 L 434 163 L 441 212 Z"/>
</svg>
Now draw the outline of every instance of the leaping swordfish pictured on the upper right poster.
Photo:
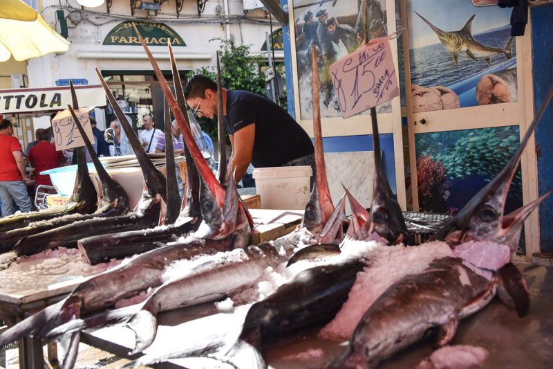
<svg viewBox="0 0 553 369">
<path fill-rule="evenodd" d="M 491 66 L 491 57 L 498 54 L 505 54 L 507 60 L 513 57 L 511 53 L 511 47 L 513 45 L 514 37 L 510 37 L 507 41 L 505 48 L 489 47 L 476 41 L 472 37 L 472 21 L 476 14 L 470 17 L 469 21 L 458 31 L 443 31 L 440 28 L 433 26 L 427 19 L 424 19 L 422 15 L 415 12 L 426 24 L 432 28 L 432 30 L 438 35 L 440 42 L 444 44 L 447 52 L 453 55 L 453 60 L 459 65 L 458 57 L 464 57 L 465 59 L 472 59 L 478 62 L 478 60 L 485 60 L 489 66 Z"/>
</svg>

